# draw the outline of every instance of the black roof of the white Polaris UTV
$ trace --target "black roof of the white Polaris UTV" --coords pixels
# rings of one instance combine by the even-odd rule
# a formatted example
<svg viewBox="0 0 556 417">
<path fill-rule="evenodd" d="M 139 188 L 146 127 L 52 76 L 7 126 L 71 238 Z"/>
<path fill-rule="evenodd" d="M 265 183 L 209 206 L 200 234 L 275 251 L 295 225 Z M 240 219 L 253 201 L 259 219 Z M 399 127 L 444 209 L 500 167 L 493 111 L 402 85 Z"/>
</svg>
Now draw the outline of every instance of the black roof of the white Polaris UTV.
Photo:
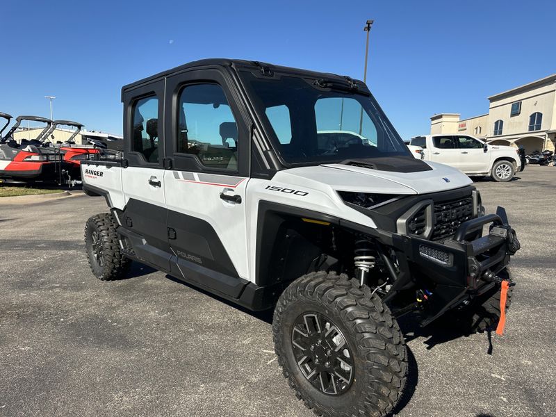
<svg viewBox="0 0 556 417">
<path fill-rule="evenodd" d="M 190 68 L 208 67 L 208 66 L 216 66 L 216 65 L 222 67 L 252 67 L 254 70 L 259 70 L 263 72 L 263 74 L 267 73 L 268 71 L 270 71 L 270 74 L 272 72 L 289 72 L 289 73 L 295 73 L 295 74 L 299 74 L 300 76 L 307 76 L 311 78 L 317 78 L 317 79 L 326 78 L 331 81 L 341 81 L 342 83 L 346 82 L 345 76 L 332 74 L 329 72 L 316 72 L 311 70 L 302 70 L 300 68 L 284 67 L 281 65 L 261 63 L 259 61 L 252 61 L 252 60 L 240 60 L 240 59 L 229 59 L 229 58 L 208 58 L 208 59 L 196 60 L 187 64 L 183 64 L 180 65 L 179 67 L 172 68 L 171 70 L 159 72 L 158 74 L 154 74 L 153 76 L 149 76 L 145 79 L 141 79 L 134 83 L 124 85 L 122 87 L 122 101 L 123 101 L 124 91 L 126 90 L 131 90 L 133 88 L 140 87 L 141 85 L 145 83 L 149 83 L 150 81 L 163 79 L 166 76 L 169 76 L 171 74 L 176 74 L 177 72 L 181 72 L 183 70 L 189 70 Z M 363 81 L 361 80 L 354 79 L 353 81 L 355 83 L 358 83 L 359 85 L 363 85 Z"/>
</svg>

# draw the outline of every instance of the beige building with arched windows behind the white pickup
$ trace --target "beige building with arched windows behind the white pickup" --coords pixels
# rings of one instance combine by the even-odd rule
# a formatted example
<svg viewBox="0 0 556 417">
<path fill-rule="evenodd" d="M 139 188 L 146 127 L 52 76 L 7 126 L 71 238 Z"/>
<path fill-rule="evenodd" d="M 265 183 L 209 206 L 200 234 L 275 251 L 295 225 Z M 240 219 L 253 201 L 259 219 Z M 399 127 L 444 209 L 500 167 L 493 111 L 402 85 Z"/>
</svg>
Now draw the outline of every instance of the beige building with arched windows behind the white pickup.
<svg viewBox="0 0 556 417">
<path fill-rule="evenodd" d="M 555 150 L 556 74 L 489 97 L 489 113 L 461 120 L 459 113 L 430 118 L 430 133 L 465 134 L 526 153 Z"/>
</svg>

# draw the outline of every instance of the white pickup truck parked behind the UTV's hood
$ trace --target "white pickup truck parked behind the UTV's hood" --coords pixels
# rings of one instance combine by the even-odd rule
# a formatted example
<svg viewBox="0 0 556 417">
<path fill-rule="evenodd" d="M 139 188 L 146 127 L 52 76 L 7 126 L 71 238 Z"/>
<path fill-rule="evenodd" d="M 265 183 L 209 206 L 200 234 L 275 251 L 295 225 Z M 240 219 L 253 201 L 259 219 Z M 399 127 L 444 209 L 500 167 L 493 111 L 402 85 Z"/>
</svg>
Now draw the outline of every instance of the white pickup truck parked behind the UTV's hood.
<svg viewBox="0 0 556 417">
<path fill-rule="evenodd" d="M 488 145 L 468 135 L 416 136 L 409 143 L 423 148 L 425 161 L 445 163 L 470 177 L 487 176 L 506 182 L 525 166 L 517 149 Z"/>
</svg>

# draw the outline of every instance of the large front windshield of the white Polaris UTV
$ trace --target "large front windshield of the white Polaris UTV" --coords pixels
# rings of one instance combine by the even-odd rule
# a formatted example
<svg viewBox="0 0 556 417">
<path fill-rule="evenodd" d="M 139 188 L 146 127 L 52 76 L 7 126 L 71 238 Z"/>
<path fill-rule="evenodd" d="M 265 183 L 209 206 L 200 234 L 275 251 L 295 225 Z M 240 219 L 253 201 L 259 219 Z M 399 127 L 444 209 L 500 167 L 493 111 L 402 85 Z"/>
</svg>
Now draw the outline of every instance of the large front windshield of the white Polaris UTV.
<svg viewBox="0 0 556 417">
<path fill-rule="evenodd" d="M 300 76 L 241 76 L 286 163 L 411 156 L 372 96 L 320 88 Z"/>
</svg>

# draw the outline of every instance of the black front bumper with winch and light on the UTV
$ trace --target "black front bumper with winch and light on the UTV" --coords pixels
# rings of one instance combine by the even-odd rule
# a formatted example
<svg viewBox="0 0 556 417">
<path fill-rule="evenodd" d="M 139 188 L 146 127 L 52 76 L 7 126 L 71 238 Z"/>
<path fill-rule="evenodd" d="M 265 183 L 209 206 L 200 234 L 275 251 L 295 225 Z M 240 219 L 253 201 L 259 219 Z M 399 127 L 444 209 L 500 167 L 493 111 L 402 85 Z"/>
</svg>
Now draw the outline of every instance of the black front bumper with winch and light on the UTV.
<svg viewBox="0 0 556 417">
<path fill-rule="evenodd" d="M 500 212 L 504 215 L 489 214 L 462 223 L 443 243 L 393 235 L 391 246 L 402 261 L 399 280 L 386 299 L 411 282 L 430 284 L 430 288 L 418 288 L 433 295 L 427 317 L 421 322 L 427 325 L 445 311 L 496 286 L 500 282 L 498 274 L 519 249 L 514 229 L 502 220 L 503 209 Z M 489 234 L 481 236 L 483 226 L 488 224 Z"/>
</svg>

